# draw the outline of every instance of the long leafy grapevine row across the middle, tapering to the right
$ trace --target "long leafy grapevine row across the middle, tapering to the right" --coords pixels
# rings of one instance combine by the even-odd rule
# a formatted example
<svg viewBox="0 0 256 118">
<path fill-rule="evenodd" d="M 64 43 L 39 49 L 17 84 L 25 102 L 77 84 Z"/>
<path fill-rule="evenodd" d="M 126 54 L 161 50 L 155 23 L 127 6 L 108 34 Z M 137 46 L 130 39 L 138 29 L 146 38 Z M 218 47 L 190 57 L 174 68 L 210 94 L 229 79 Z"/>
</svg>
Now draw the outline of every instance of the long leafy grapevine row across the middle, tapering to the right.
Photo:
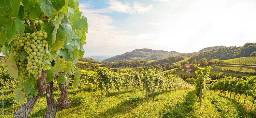
<svg viewBox="0 0 256 118">
<path fill-rule="evenodd" d="M 73 78 L 73 76 L 71 76 Z M 70 79 L 69 84 L 72 85 L 72 80 Z M 102 97 L 105 95 L 108 97 L 109 91 L 111 89 L 116 89 L 120 94 L 120 89 L 128 88 L 146 88 L 153 94 L 155 91 L 164 91 L 169 88 L 171 90 L 182 90 L 191 89 L 192 85 L 188 84 L 184 80 L 174 75 L 164 76 L 163 72 L 156 70 L 143 70 L 141 72 L 133 71 L 131 73 L 116 73 L 111 72 L 109 68 L 103 67 L 98 68 L 97 72 L 89 70 L 81 70 L 81 77 L 79 82 L 79 87 L 90 86 L 100 89 Z M 154 97 L 153 97 L 154 100 Z"/>
</svg>

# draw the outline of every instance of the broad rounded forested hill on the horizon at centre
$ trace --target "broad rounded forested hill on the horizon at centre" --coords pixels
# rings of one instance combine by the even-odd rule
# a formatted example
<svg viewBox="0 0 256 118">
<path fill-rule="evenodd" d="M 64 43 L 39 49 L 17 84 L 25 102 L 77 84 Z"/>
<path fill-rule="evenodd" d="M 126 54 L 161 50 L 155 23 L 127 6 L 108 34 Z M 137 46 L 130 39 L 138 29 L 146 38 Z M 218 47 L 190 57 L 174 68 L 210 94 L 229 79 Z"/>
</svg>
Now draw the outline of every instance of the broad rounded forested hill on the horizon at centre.
<svg viewBox="0 0 256 118">
<path fill-rule="evenodd" d="M 152 50 L 152 49 L 136 49 L 131 52 L 116 55 L 114 57 L 103 60 L 103 62 L 116 62 L 121 60 L 157 60 L 158 58 L 167 58 L 169 56 L 178 56 L 183 53 L 175 51 L 163 51 L 163 50 Z"/>
</svg>

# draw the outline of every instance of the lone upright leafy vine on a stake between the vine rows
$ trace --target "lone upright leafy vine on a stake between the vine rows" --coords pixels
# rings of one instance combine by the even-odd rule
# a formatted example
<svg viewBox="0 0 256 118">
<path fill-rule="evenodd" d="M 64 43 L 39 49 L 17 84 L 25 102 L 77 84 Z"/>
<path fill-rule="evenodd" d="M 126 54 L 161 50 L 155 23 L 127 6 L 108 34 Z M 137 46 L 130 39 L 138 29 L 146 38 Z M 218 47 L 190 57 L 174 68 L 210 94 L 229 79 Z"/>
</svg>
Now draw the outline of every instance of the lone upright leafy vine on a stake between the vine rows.
<svg viewBox="0 0 256 118">
<path fill-rule="evenodd" d="M 210 81 L 209 74 L 211 71 L 211 66 L 207 66 L 204 68 L 199 67 L 196 71 L 197 79 L 196 79 L 196 95 L 199 97 L 199 107 L 201 107 L 201 101 L 203 94 L 207 91 L 206 84 Z"/>
</svg>

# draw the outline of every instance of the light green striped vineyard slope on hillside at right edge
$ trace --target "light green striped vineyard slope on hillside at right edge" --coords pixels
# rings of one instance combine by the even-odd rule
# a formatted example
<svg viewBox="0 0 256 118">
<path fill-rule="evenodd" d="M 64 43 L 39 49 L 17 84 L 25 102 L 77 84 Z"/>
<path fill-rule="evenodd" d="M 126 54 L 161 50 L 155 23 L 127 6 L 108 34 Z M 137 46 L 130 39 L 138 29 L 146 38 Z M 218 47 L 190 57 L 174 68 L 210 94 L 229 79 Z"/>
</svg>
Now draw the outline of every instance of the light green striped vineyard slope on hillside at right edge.
<svg viewBox="0 0 256 118">
<path fill-rule="evenodd" d="M 253 57 L 240 57 L 240 58 L 233 58 L 229 60 L 224 60 L 227 64 L 240 64 L 243 62 L 245 65 L 256 65 L 256 56 Z"/>
</svg>

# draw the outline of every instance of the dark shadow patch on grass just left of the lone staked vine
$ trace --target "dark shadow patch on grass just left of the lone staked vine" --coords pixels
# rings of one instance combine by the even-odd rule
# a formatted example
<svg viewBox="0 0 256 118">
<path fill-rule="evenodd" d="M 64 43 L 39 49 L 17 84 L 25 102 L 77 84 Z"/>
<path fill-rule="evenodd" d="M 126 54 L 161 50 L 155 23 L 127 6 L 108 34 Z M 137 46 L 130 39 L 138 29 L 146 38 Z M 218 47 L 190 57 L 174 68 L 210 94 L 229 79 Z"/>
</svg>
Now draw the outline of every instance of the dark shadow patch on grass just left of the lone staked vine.
<svg viewBox="0 0 256 118">
<path fill-rule="evenodd" d="M 166 104 L 160 111 L 161 118 L 188 118 L 194 111 L 196 102 L 195 90 L 189 91 L 185 96 L 185 101 L 178 101 L 176 104 Z"/>
</svg>

